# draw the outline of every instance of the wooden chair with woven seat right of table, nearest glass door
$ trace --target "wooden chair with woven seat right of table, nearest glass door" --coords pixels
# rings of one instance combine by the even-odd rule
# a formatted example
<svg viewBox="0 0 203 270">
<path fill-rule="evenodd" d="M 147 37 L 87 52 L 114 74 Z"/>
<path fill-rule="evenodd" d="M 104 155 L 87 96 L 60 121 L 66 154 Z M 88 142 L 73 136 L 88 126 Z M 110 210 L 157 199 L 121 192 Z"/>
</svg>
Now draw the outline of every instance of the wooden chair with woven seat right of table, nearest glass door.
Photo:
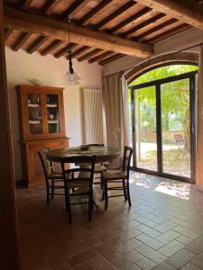
<svg viewBox="0 0 203 270">
<path fill-rule="evenodd" d="M 124 149 L 124 157 L 123 157 L 123 166 L 122 168 L 117 169 L 107 169 L 106 172 L 102 173 L 102 181 L 104 183 L 105 190 L 105 210 L 108 205 L 108 198 L 111 197 L 119 197 L 124 196 L 125 201 L 128 201 L 129 206 L 131 206 L 131 198 L 130 198 L 130 189 L 129 189 L 129 171 L 130 171 L 130 163 L 131 157 L 133 154 L 133 148 L 125 146 Z M 122 184 L 119 186 L 108 184 Z M 108 191 L 123 191 L 123 193 L 108 195 Z"/>
</svg>

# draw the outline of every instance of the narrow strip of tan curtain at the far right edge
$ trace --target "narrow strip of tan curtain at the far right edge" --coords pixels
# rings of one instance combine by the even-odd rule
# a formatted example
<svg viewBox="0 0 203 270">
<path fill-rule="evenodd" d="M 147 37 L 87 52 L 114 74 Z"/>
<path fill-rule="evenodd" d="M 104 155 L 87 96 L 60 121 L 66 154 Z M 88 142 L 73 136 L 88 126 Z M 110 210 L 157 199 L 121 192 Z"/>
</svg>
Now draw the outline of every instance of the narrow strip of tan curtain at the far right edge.
<svg viewBox="0 0 203 270">
<path fill-rule="evenodd" d="M 196 185 L 203 188 L 203 47 L 198 64 Z"/>
</svg>

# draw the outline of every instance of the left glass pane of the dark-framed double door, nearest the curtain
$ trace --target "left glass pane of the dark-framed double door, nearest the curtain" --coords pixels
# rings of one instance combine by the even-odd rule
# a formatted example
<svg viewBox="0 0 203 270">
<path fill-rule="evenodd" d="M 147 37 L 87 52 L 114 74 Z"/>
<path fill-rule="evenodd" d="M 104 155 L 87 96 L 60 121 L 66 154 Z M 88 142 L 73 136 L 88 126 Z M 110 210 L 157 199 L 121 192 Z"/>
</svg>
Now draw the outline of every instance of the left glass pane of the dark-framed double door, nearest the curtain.
<svg viewBox="0 0 203 270">
<path fill-rule="evenodd" d="M 155 86 L 134 90 L 134 115 L 135 166 L 157 171 Z"/>
</svg>

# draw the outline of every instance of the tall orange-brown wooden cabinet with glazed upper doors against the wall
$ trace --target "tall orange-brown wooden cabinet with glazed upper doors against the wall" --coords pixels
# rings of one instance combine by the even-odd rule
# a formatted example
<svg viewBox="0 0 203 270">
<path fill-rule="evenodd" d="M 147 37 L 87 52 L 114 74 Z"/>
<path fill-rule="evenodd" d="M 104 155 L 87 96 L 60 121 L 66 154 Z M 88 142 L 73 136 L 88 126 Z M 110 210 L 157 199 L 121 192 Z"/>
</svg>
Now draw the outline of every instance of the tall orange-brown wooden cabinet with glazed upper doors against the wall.
<svg viewBox="0 0 203 270">
<path fill-rule="evenodd" d="M 37 152 L 43 148 L 65 148 L 63 88 L 17 85 L 20 117 L 23 183 L 44 184 Z"/>
</svg>

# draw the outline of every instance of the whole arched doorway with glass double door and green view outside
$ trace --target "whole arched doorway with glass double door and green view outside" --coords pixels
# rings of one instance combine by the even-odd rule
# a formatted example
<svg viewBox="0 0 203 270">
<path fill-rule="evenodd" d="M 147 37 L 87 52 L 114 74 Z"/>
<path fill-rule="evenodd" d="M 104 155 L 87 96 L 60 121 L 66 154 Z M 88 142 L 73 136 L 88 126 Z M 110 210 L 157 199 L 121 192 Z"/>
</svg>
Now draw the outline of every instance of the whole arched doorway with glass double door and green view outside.
<svg viewBox="0 0 203 270">
<path fill-rule="evenodd" d="M 197 63 L 171 62 L 131 78 L 133 168 L 193 183 Z"/>
</svg>

